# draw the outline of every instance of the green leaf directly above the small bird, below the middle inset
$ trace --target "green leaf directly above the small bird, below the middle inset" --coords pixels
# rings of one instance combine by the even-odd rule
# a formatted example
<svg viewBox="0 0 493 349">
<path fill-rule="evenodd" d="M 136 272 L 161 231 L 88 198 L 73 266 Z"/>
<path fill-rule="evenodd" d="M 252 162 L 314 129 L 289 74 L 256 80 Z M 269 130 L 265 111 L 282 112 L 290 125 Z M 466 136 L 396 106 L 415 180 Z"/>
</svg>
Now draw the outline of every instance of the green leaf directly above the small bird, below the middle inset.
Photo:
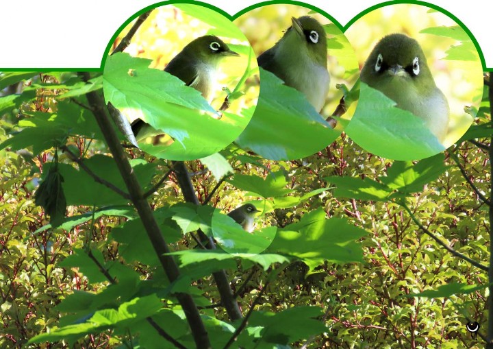
<svg viewBox="0 0 493 349">
<path fill-rule="evenodd" d="M 269 173 L 265 179 L 255 175 L 236 174 L 226 181 L 238 189 L 248 191 L 251 196 L 267 198 L 287 195 L 293 192 L 292 189 L 286 188 L 288 181 L 282 172 Z"/>
</svg>

